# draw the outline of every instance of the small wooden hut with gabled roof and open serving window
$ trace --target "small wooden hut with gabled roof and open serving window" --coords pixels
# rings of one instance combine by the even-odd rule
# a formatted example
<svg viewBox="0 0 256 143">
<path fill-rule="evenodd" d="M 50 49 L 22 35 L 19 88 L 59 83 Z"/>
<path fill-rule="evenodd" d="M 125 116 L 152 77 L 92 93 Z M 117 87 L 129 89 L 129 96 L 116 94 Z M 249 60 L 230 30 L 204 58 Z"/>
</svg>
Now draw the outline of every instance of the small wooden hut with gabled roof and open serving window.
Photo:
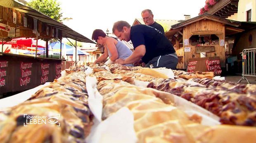
<svg viewBox="0 0 256 143">
<path fill-rule="evenodd" d="M 238 21 L 232 21 L 210 14 L 203 14 L 171 26 L 166 32 L 179 58 L 177 69 L 187 69 L 189 59 L 219 57 L 221 67 L 225 67 L 225 44 L 230 35 L 243 32 Z"/>
</svg>

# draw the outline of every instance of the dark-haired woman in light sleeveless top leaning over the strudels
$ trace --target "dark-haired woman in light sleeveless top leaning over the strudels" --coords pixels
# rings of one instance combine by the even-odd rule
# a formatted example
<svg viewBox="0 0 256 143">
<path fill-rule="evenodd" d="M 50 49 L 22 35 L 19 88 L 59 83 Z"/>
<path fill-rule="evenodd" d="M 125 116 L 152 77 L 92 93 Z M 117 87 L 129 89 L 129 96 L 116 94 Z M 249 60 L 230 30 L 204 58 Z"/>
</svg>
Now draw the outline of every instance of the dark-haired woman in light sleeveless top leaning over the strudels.
<svg viewBox="0 0 256 143">
<path fill-rule="evenodd" d="M 108 37 L 102 30 L 96 29 L 92 33 L 92 39 L 97 42 L 97 44 L 104 45 L 104 54 L 102 54 L 97 60 L 93 62 L 96 64 L 98 62 L 103 62 L 108 57 L 111 62 L 114 63 L 115 60 L 121 58 L 128 58 L 133 52 L 125 45 L 123 42 L 113 38 Z M 133 66 L 133 65 L 128 65 Z"/>
</svg>

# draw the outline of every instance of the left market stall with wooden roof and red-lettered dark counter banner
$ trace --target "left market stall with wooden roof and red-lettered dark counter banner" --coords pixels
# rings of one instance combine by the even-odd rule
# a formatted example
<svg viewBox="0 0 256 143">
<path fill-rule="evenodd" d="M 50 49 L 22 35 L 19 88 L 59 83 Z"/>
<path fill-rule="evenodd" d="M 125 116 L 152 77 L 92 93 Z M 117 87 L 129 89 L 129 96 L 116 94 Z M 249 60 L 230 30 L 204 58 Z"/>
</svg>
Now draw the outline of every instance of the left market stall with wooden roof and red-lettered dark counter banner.
<svg viewBox="0 0 256 143">
<path fill-rule="evenodd" d="M 0 1 L 0 30 L 1 47 L 3 47 L 0 51 L 1 95 L 28 90 L 45 82 L 52 82 L 60 76 L 63 47 L 62 44 L 59 45 L 57 57 L 49 57 L 50 39 L 62 42 L 62 38 L 71 38 L 79 42 L 94 43 L 66 25 L 16 0 Z M 36 39 L 34 40 L 36 42 L 33 42 L 32 38 Z M 42 46 L 38 43 L 38 39 L 45 39 L 45 49 L 39 50 Z M 9 47 L 5 48 L 5 44 L 31 46 L 31 51 L 35 52 L 31 54 L 34 58 L 11 54 Z M 77 55 L 77 50 L 74 51 Z M 46 53 L 46 58 L 38 57 L 38 53 Z M 30 55 L 30 52 L 28 54 Z"/>
</svg>

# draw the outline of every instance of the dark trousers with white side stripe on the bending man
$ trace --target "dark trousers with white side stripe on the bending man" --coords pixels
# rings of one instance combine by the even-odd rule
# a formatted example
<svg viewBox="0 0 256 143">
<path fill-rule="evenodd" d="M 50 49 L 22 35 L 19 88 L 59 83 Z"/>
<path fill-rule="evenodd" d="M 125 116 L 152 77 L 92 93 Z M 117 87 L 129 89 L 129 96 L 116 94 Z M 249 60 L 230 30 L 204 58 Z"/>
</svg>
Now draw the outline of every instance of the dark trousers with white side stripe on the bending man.
<svg viewBox="0 0 256 143">
<path fill-rule="evenodd" d="M 178 56 L 176 53 L 160 55 L 150 60 L 145 67 L 159 68 L 166 67 L 167 69 L 176 69 L 178 64 Z"/>
</svg>

